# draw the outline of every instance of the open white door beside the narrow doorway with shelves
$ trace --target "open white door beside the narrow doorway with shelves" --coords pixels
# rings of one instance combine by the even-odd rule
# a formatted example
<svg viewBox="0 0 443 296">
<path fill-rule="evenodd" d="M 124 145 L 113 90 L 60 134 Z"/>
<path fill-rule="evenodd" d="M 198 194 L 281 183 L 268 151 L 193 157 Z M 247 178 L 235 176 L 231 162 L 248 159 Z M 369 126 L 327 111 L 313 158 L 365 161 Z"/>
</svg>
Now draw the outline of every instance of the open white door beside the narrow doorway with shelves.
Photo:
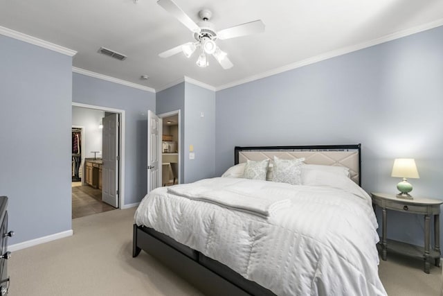
<svg viewBox="0 0 443 296">
<path fill-rule="evenodd" d="M 161 119 L 151 110 L 147 111 L 147 192 L 161 185 L 160 164 Z"/>
</svg>

